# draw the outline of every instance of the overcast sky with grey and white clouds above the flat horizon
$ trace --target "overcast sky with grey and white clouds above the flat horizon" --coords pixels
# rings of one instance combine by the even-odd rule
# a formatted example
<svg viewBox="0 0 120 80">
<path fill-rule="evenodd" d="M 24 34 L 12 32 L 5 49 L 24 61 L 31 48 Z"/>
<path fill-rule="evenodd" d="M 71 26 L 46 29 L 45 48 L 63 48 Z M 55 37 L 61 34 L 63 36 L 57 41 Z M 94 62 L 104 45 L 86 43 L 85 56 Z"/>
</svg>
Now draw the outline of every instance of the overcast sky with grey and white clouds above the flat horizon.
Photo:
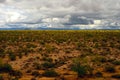
<svg viewBox="0 0 120 80">
<path fill-rule="evenodd" d="M 120 29 L 120 0 L 0 0 L 1 28 Z"/>
</svg>

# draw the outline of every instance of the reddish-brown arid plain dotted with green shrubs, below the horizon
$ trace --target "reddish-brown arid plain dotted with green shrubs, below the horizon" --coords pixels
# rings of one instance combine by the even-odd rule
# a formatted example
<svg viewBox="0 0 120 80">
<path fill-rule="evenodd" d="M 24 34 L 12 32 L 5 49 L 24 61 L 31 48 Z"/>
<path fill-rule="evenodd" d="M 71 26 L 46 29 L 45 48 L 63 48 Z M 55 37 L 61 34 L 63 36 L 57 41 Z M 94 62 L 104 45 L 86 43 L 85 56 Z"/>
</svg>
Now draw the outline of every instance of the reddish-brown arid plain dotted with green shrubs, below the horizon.
<svg viewBox="0 0 120 80">
<path fill-rule="evenodd" d="M 0 80 L 120 80 L 120 30 L 0 31 Z"/>
</svg>

